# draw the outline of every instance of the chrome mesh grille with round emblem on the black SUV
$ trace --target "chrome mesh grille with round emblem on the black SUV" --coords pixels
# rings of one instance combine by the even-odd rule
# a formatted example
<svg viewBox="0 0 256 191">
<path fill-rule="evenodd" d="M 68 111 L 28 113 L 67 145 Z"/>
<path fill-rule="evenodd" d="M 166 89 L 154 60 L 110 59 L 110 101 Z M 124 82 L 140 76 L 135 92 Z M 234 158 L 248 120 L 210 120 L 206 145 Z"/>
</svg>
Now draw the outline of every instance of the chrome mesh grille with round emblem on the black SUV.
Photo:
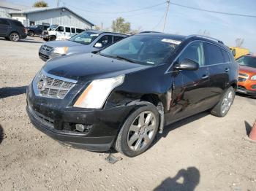
<svg viewBox="0 0 256 191">
<path fill-rule="evenodd" d="M 39 83 L 41 83 L 40 87 Z M 63 99 L 69 93 L 69 90 L 75 86 L 75 83 L 75 80 L 57 77 L 46 74 L 45 71 L 40 71 L 34 79 L 33 88 L 38 96 Z"/>
</svg>

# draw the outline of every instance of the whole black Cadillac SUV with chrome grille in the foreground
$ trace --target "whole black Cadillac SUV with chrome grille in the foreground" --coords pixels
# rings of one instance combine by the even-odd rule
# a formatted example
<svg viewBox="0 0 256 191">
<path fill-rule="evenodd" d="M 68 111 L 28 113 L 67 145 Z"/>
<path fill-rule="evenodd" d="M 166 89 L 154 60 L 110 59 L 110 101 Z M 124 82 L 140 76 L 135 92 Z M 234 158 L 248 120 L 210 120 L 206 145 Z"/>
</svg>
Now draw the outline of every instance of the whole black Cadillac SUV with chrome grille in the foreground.
<svg viewBox="0 0 256 191">
<path fill-rule="evenodd" d="M 53 139 L 134 157 L 165 125 L 206 110 L 224 117 L 237 82 L 219 40 L 144 33 L 48 61 L 27 89 L 27 112 Z"/>
</svg>

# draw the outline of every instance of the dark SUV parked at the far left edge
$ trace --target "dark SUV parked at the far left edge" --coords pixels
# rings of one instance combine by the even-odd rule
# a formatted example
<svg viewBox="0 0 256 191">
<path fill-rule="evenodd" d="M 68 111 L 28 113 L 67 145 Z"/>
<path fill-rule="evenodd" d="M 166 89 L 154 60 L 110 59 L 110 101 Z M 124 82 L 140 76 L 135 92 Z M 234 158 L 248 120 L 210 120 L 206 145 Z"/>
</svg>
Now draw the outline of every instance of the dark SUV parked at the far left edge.
<svg viewBox="0 0 256 191">
<path fill-rule="evenodd" d="M 26 36 L 26 28 L 18 20 L 0 17 L 0 37 L 17 42 Z"/>
</svg>

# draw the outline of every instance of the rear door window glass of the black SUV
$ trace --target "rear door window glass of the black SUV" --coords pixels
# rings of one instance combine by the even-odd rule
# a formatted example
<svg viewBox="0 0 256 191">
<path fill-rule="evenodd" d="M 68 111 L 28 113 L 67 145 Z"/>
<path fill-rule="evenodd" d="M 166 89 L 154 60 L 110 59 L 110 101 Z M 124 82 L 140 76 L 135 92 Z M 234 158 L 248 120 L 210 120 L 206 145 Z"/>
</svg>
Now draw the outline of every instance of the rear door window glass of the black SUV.
<svg viewBox="0 0 256 191">
<path fill-rule="evenodd" d="M 206 43 L 207 65 L 225 63 L 222 49 L 214 44 Z"/>
</svg>

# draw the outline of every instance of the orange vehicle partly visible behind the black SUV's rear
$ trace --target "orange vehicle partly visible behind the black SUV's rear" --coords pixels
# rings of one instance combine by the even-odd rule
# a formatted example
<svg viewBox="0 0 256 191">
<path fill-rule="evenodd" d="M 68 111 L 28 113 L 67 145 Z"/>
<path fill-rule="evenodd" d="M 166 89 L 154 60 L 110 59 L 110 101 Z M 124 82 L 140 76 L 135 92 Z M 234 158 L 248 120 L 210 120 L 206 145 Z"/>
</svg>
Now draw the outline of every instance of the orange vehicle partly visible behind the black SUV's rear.
<svg viewBox="0 0 256 191">
<path fill-rule="evenodd" d="M 256 96 L 256 56 L 243 55 L 238 58 L 239 77 L 237 92 Z"/>
</svg>

